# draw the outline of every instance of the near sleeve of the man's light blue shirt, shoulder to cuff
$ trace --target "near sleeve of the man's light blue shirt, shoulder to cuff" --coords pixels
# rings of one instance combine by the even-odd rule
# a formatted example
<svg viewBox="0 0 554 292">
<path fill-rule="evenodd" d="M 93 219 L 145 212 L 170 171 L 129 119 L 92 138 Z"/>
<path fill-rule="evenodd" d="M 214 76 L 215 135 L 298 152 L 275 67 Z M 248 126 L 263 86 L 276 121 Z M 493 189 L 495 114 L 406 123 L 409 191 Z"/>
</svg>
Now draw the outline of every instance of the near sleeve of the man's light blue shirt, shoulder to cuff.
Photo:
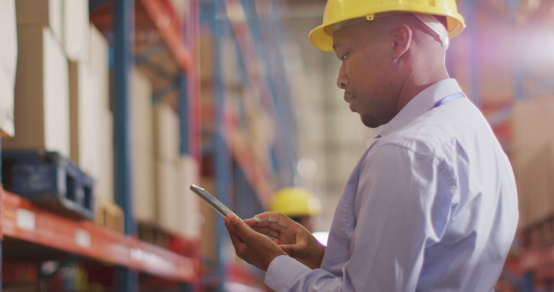
<svg viewBox="0 0 554 292">
<path fill-rule="evenodd" d="M 444 169 L 401 145 L 372 149 L 360 168 L 342 275 L 278 257 L 266 284 L 276 291 L 416 290 L 425 248 L 439 241 L 449 218 L 452 179 Z"/>
</svg>

